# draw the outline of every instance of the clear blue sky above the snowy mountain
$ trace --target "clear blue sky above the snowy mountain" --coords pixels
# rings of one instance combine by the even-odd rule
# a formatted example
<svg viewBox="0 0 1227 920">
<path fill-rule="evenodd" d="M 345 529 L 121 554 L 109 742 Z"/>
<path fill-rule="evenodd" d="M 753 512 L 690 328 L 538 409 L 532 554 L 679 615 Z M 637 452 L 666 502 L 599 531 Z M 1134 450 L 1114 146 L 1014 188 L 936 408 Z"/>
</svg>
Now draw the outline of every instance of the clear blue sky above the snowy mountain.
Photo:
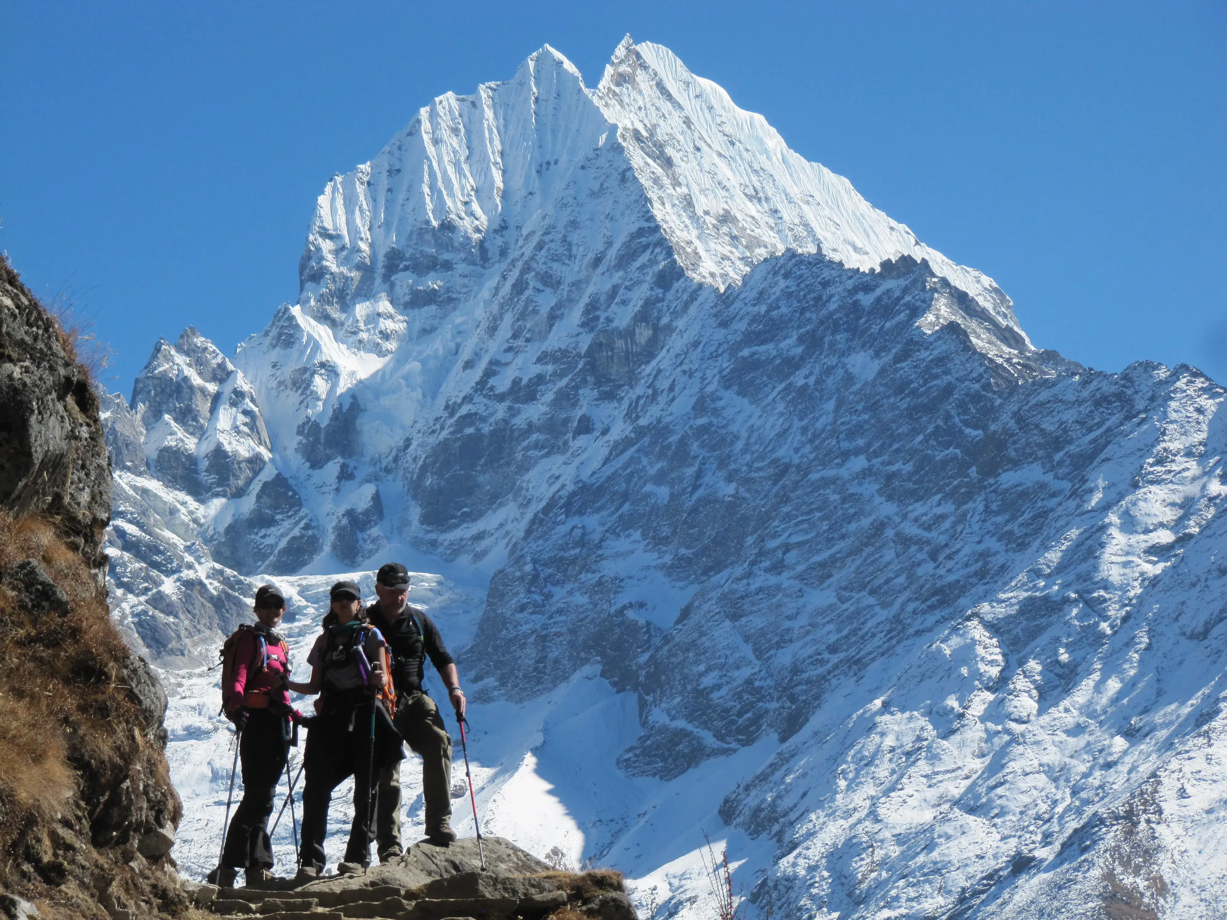
<svg viewBox="0 0 1227 920">
<path fill-rule="evenodd" d="M 0 0 L 0 249 L 128 395 L 158 336 L 227 353 L 297 297 L 317 195 L 432 97 L 544 43 L 595 85 L 671 48 L 1040 347 L 1227 381 L 1227 4 Z"/>
</svg>

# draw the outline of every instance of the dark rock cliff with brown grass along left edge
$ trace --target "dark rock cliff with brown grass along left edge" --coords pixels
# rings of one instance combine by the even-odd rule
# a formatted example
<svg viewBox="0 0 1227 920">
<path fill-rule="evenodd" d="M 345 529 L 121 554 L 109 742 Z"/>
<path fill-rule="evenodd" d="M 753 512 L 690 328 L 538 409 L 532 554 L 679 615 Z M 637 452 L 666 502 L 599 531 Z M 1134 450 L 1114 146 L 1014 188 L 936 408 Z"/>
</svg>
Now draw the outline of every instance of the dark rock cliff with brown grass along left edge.
<svg viewBox="0 0 1227 920">
<path fill-rule="evenodd" d="M 72 343 L 0 260 L 0 887 L 50 916 L 182 905 L 166 694 L 110 622 L 112 483 Z M 126 914 L 124 911 L 128 911 Z"/>
</svg>

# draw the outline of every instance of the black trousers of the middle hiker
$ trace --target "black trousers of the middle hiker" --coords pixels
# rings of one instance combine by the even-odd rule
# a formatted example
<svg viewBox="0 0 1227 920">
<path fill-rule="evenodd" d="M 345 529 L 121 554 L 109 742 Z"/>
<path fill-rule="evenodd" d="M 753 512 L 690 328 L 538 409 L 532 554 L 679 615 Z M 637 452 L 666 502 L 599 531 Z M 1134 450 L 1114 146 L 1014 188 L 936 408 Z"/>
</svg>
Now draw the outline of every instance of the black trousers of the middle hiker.
<svg viewBox="0 0 1227 920">
<path fill-rule="evenodd" d="M 372 709 L 375 716 L 373 738 Z M 391 719 L 383 707 L 374 707 L 373 703 L 325 711 L 308 730 L 307 751 L 303 754 L 307 779 L 303 784 L 299 850 L 303 866 L 323 872 L 328 865 L 328 857 L 324 855 L 328 806 L 333 801 L 333 790 L 348 776 L 353 776 L 353 822 L 350 824 L 345 861 L 369 865 L 378 807 L 378 786 L 371 783 L 372 748 L 374 748 L 377 779 L 380 763 L 390 758 L 399 761 L 402 757 L 400 736 L 393 730 Z"/>
</svg>

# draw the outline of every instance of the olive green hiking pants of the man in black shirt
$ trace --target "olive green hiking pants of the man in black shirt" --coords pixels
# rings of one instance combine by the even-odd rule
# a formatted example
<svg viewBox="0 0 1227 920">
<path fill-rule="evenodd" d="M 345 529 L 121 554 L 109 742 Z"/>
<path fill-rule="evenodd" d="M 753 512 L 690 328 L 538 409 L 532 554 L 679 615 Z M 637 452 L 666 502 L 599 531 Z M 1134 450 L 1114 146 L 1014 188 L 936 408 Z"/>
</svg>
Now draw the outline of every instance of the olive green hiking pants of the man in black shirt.
<svg viewBox="0 0 1227 920">
<path fill-rule="evenodd" d="M 396 698 L 396 731 L 422 758 L 422 799 L 426 833 L 438 829 L 452 815 L 452 736 L 434 700 L 421 692 Z M 404 850 L 400 835 L 400 764 L 379 770 L 375 848 L 383 856 Z"/>
</svg>

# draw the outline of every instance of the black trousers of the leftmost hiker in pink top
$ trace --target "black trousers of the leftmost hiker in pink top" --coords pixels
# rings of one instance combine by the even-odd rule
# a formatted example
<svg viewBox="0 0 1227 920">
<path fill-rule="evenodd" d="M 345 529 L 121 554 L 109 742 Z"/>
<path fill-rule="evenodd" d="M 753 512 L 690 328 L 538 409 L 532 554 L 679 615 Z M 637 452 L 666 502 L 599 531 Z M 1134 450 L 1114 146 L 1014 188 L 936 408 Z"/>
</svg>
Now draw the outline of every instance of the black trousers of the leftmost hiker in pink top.
<svg viewBox="0 0 1227 920">
<path fill-rule="evenodd" d="M 277 781 L 286 769 L 290 742 L 285 719 L 267 709 L 253 709 L 239 738 L 243 764 L 243 800 L 226 832 L 222 865 L 229 868 L 272 868 L 269 816 Z"/>
</svg>

